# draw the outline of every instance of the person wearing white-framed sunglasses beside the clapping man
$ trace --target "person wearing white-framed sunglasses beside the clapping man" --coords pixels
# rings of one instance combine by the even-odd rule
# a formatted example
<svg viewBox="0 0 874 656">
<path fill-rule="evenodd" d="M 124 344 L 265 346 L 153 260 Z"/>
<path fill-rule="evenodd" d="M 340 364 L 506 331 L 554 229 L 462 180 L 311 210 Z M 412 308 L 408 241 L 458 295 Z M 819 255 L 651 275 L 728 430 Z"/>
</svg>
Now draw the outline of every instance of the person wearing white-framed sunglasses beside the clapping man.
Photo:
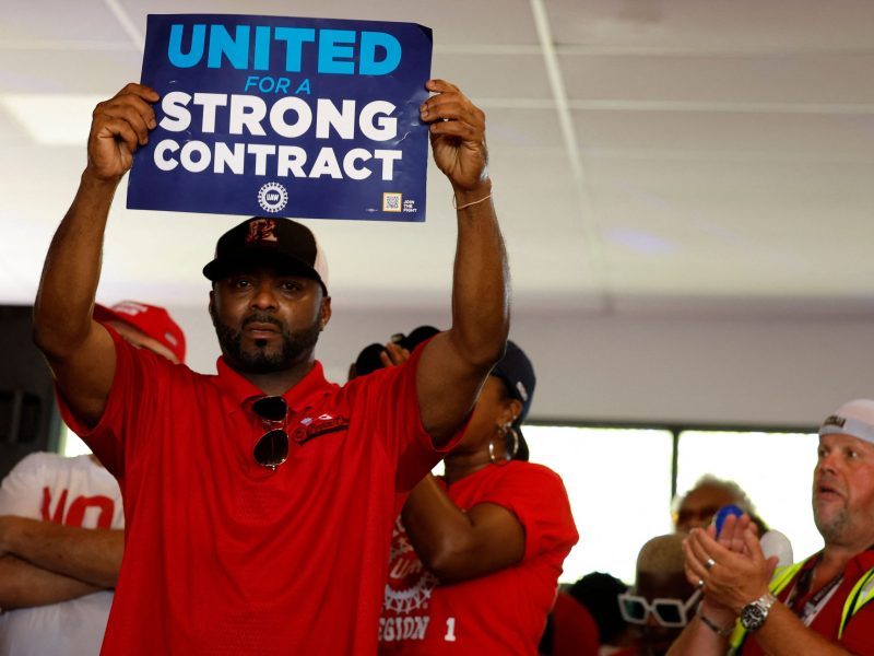
<svg viewBox="0 0 874 656">
<path fill-rule="evenodd" d="M 615 656 L 663 656 L 700 599 L 686 579 L 683 537 L 670 534 L 648 540 L 637 555 L 634 587 L 617 599 L 636 641 Z"/>
</svg>

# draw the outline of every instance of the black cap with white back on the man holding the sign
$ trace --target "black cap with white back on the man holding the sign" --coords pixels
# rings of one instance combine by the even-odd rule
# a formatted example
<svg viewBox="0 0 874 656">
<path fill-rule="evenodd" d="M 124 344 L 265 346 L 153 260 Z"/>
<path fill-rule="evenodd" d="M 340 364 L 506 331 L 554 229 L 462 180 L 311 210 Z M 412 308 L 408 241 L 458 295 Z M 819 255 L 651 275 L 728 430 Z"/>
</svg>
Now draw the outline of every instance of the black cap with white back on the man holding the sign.
<svg viewBox="0 0 874 656">
<path fill-rule="evenodd" d="M 328 294 L 328 260 L 316 235 L 303 223 L 280 216 L 247 219 L 218 237 L 215 257 L 203 267 L 203 276 L 215 282 L 252 265 L 311 278 Z"/>
</svg>

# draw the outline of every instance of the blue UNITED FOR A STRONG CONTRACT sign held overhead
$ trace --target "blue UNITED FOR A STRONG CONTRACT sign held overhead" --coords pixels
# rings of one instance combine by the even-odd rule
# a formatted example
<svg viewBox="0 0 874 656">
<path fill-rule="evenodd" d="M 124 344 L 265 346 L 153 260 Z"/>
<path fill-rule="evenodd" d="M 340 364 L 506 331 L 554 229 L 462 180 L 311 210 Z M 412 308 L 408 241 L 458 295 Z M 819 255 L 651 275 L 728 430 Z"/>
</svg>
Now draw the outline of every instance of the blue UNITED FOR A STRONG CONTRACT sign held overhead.
<svg viewBox="0 0 874 656">
<path fill-rule="evenodd" d="M 149 15 L 128 208 L 424 221 L 430 56 L 414 23 Z"/>
</svg>

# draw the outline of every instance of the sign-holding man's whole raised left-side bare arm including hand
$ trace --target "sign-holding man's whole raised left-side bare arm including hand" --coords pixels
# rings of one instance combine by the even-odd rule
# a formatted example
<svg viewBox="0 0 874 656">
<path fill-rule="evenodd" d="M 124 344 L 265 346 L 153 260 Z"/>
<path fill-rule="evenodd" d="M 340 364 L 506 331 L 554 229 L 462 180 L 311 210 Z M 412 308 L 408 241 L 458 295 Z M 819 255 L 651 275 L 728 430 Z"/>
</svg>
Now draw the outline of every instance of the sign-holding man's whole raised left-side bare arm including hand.
<svg viewBox="0 0 874 656">
<path fill-rule="evenodd" d="M 94 424 L 103 414 L 115 374 L 109 333 L 92 320 L 109 207 L 133 151 L 155 127 L 157 94 L 128 84 L 94 109 L 87 165 L 79 190 L 49 246 L 34 304 L 34 340 L 66 400 Z"/>
</svg>

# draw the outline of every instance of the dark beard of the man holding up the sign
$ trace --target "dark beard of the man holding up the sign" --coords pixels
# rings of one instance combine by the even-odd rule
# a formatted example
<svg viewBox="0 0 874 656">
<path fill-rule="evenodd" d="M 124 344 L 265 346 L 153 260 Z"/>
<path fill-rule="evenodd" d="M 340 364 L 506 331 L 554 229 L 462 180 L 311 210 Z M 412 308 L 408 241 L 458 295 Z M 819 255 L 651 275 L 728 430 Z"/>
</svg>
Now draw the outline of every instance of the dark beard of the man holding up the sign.
<svg viewBox="0 0 874 656">
<path fill-rule="evenodd" d="M 251 350 L 243 349 L 243 328 L 248 324 L 257 321 L 259 324 L 273 324 L 280 329 L 282 345 L 279 351 L 269 352 L 267 340 L 256 340 L 255 348 Z M 221 323 L 217 317 L 213 317 L 215 335 L 222 353 L 228 360 L 233 368 L 247 374 L 270 374 L 291 368 L 305 356 L 308 356 L 319 339 L 318 319 L 307 328 L 287 331 L 284 326 L 270 315 L 252 315 L 243 321 L 240 330 L 234 330 L 227 324 Z"/>
</svg>

